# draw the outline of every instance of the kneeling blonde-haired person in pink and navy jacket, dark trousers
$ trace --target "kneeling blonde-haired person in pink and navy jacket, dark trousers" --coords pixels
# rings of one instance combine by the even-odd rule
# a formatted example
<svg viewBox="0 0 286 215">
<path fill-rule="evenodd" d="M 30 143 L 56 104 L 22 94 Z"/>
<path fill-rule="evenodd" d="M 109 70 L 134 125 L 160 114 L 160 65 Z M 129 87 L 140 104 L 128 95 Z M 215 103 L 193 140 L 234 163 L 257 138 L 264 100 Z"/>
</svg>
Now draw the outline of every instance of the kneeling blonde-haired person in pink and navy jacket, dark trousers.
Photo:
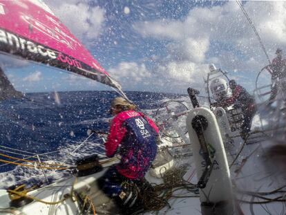
<svg viewBox="0 0 286 215">
<path fill-rule="evenodd" d="M 158 127 L 143 113 L 135 111 L 135 105 L 123 97 L 111 102 L 115 115 L 105 142 L 106 156 L 116 153 L 121 161 L 108 169 L 99 180 L 99 187 L 122 209 L 122 214 L 133 214 L 143 209 L 140 187 L 157 153 Z"/>
</svg>

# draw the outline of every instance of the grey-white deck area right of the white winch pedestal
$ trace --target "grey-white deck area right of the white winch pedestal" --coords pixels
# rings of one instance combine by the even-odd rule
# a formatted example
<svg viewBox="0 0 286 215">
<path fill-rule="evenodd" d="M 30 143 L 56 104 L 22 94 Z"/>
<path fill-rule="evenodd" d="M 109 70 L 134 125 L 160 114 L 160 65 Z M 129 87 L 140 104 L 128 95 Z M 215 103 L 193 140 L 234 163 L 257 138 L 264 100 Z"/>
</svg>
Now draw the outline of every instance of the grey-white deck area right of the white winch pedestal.
<svg viewBox="0 0 286 215">
<path fill-rule="evenodd" d="M 233 191 L 244 214 L 285 214 L 285 160 L 269 156 L 276 142 L 253 135 L 231 166 Z"/>
</svg>

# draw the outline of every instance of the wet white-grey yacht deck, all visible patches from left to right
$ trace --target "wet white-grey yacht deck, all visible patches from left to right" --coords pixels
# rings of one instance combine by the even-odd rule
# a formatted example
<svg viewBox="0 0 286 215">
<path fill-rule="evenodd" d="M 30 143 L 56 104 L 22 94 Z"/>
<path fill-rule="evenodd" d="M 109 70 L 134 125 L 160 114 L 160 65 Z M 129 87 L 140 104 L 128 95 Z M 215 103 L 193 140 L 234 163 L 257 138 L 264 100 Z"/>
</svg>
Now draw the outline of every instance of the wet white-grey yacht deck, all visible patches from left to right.
<svg viewBox="0 0 286 215">
<path fill-rule="evenodd" d="M 285 214 L 286 206 L 282 201 L 284 193 L 278 192 L 282 191 L 282 189 L 278 190 L 279 188 L 286 185 L 285 169 L 283 169 L 283 165 L 271 163 L 271 158 L 265 156 L 273 144 L 265 136 L 256 134 L 249 137 L 247 142 L 241 138 L 234 138 L 232 145 L 226 147 L 233 192 L 237 199 L 236 202 L 244 214 Z M 184 180 L 196 185 L 198 179 L 193 165 L 193 157 L 175 158 L 175 168 L 182 165 L 187 166 Z M 93 199 L 97 213 L 105 209 L 104 213 L 108 214 L 110 212 L 110 210 L 108 211 L 110 209 L 108 204 L 112 205 L 112 203 L 99 190 L 96 183 L 97 178 L 103 173 L 104 171 L 77 179 L 70 177 L 28 194 L 46 202 L 56 202 L 63 199 L 66 194 L 70 194 L 73 187 L 74 191 L 84 193 Z M 154 178 L 149 173 L 146 174 L 146 179 L 153 185 L 162 183 L 162 179 Z M 275 191 L 276 189 L 277 191 Z M 168 201 L 169 205 L 166 205 L 159 212 L 145 212 L 144 214 L 201 214 L 200 198 L 193 197 L 193 192 L 178 189 L 172 195 L 173 197 L 169 198 Z M 271 200 L 275 198 L 281 201 Z M 263 203 L 259 203 L 259 201 L 263 201 Z M 9 202 L 8 196 L 2 191 L 1 208 L 9 207 Z M 32 214 L 76 214 L 79 212 L 79 205 L 71 199 L 57 205 L 47 205 L 34 201 L 21 208 L 21 211 L 26 214 L 31 214 L 31 212 Z"/>
</svg>

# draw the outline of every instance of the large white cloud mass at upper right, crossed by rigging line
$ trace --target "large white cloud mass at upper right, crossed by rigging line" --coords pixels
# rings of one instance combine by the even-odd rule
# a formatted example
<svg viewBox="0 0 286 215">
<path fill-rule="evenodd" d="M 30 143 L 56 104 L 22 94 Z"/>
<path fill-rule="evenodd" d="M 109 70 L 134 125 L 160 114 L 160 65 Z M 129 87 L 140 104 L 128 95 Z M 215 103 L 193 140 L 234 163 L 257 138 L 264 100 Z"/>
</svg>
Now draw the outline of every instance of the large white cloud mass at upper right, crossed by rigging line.
<svg viewBox="0 0 286 215">
<path fill-rule="evenodd" d="M 277 44 L 286 50 L 286 2 L 248 1 L 243 6 L 270 58 L 274 57 Z M 158 61 L 158 68 L 170 80 L 180 83 L 197 84 L 198 75 L 206 75 L 210 63 L 229 71 L 251 73 L 258 73 L 268 63 L 253 29 L 235 1 L 211 8 L 193 8 L 181 20 L 138 21 L 133 29 L 143 37 L 168 41 L 167 60 Z"/>
</svg>

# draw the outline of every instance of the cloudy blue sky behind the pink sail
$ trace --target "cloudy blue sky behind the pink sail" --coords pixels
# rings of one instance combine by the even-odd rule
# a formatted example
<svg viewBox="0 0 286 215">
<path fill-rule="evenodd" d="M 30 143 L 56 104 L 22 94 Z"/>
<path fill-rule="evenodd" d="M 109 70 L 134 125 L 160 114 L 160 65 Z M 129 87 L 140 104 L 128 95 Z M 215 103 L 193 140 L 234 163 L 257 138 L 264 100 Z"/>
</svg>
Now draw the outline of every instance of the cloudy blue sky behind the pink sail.
<svg viewBox="0 0 286 215">
<path fill-rule="evenodd" d="M 42 1 L 124 91 L 186 93 L 189 86 L 204 91 L 211 63 L 253 91 L 268 64 L 236 1 Z M 242 4 L 269 58 L 276 48 L 286 50 L 286 1 Z M 22 91 L 110 89 L 46 66 L 19 64 L 5 66 Z M 269 75 L 258 82 L 269 82 Z"/>
</svg>

